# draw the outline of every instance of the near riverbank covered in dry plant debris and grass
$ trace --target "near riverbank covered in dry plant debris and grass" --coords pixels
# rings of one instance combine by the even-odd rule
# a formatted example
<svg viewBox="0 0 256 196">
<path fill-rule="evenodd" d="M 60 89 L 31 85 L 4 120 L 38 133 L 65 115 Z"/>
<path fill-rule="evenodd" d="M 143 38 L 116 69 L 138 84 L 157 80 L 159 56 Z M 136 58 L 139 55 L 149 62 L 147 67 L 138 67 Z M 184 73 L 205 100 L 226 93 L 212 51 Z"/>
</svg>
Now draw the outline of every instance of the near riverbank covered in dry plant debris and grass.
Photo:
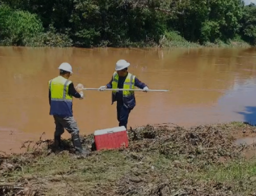
<svg viewBox="0 0 256 196">
<path fill-rule="evenodd" d="M 0 155 L 0 195 L 256 195 L 256 159 L 244 156 L 256 147 L 235 143 L 256 127 L 171 125 L 131 128 L 128 148 L 87 158 L 73 154 L 70 140 L 58 154 L 40 140 L 27 153 Z M 81 140 L 91 148 L 93 135 Z"/>
</svg>

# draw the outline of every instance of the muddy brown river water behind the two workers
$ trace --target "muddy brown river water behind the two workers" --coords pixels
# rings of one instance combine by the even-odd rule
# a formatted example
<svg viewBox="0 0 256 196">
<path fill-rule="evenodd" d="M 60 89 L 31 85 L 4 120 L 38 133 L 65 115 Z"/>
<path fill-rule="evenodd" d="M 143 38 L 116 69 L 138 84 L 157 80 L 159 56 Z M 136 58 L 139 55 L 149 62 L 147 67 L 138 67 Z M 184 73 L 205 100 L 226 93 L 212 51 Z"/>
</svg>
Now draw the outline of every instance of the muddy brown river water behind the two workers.
<svg viewBox="0 0 256 196">
<path fill-rule="evenodd" d="M 25 140 L 52 139 L 48 80 L 69 62 L 71 80 L 86 88 L 110 81 L 115 62 L 125 59 L 129 71 L 150 89 L 136 92 L 137 106 L 128 127 L 147 123 L 191 126 L 228 121 L 256 122 L 256 49 L 75 49 L 0 48 L 0 150 L 19 152 Z M 74 99 L 81 134 L 118 126 L 111 92 L 85 91 Z M 65 132 L 63 137 L 70 135 Z"/>
</svg>

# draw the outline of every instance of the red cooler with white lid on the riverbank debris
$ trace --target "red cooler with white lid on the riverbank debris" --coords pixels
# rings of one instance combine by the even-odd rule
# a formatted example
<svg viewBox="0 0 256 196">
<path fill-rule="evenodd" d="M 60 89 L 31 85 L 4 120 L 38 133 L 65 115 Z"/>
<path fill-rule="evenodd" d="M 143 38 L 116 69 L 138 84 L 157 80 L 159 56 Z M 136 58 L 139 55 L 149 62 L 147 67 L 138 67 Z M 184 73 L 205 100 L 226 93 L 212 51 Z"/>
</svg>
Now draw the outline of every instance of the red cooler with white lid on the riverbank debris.
<svg viewBox="0 0 256 196">
<path fill-rule="evenodd" d="M 124 126 L 95 130 L 96 150 L 128 147 L 128 136 Z"/>
</svg>

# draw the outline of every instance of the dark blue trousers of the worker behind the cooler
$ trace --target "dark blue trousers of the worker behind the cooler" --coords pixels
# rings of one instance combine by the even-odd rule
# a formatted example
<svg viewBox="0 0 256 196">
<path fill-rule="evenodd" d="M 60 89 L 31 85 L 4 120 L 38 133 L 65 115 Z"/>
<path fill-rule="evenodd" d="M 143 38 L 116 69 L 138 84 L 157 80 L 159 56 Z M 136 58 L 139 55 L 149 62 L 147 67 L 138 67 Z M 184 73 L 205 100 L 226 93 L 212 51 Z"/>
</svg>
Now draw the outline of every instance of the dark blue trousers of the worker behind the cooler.
<svg viewBox="0 0 256 196">
<path fill-rule="evenodd" d="M 128 109 L 123 105 L 122 101 L 117 101 L 116 104 L 117 120 L 119 121 L 119 126 L 125 126 L 127 128 L 129 114 L 132 109 Z"/>
</svg>

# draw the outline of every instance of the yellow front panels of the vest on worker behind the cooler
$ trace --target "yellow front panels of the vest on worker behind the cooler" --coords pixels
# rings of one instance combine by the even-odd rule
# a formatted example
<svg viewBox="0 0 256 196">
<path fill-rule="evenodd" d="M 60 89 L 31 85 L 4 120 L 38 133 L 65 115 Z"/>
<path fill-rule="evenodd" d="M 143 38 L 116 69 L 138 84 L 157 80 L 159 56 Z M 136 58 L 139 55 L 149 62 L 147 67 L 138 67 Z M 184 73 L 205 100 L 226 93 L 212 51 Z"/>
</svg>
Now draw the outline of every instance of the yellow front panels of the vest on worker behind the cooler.
<svg viewBox="0 0 256 196">
<path fill-rule="evenodd" d="M 118 89 L 118 79 L 119 76 L 117 72 L 114 72 L 113 74 L 113 81 L 112 81 L 112 89 Z M 135 76 L 128 73 L 126 76 L 124 82 L 123 82 L 123 89 L 134 89 L 135 88 Z M 113 94 L 116 94 L 116 91 L 112 91 Z M 123 91 L 123 97 L 129 97 L 133 95 L 133 91 Z"/>
</svg>

